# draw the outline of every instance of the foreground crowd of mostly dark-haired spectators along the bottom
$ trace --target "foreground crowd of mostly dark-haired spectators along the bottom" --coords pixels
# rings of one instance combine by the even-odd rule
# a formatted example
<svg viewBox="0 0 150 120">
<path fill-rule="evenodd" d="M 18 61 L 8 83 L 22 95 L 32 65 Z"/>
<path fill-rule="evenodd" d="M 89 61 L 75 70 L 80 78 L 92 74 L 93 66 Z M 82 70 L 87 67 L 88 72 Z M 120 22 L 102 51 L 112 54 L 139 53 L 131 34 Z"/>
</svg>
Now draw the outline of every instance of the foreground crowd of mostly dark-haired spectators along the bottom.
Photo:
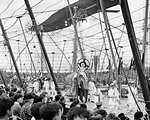
<svg viewBox="0 0 150 120">
<path fill-rule="evenodd" d="M 69 101 L 71 104 L 66 104 L 66 96 L 61 93 L 53 98 L 44 91 L 37 94 L 34 90 L 27 93 L 14 86 L 1 87 L 0 120 L 132 120 L 125 113 L 102 109 L 101 101 L 96 102 L 93 110 L 77 98 Z M 134 120 L 146 119 L 142 111 L 135 112 L 133 117 Z"/>
</svg>

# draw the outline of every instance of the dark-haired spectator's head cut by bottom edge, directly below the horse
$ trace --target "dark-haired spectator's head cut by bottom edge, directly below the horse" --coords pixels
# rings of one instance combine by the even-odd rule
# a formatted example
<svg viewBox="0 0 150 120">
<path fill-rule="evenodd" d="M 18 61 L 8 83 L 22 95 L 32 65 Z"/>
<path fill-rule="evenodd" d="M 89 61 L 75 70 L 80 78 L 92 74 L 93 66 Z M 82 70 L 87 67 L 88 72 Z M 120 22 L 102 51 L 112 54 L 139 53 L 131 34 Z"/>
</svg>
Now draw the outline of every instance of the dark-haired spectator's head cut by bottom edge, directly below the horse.
<svg viewBox="0 0 150 120">
<path fill-rule="evenodd" d="M 89 112 L 82 107 L 73 107 L 67 113 L 68 120 L 87 120 Z"/>
</svg>

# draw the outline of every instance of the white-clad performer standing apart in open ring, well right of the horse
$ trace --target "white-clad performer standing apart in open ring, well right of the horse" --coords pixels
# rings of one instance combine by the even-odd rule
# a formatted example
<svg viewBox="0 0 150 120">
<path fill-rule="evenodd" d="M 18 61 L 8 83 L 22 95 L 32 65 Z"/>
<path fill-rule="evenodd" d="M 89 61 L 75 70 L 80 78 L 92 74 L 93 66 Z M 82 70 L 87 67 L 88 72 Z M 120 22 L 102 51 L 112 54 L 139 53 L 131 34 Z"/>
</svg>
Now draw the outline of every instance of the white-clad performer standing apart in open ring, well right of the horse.
<svg viewBox="0 0 150 120">
<path fill-rule="evenodd" d="M 119 108 L 119 92 L 117 90 L 116 84 L 111 83 L 110 89 L 108 90 L 109 97 L 109 112 L 117 113 Z"/>
</svg>

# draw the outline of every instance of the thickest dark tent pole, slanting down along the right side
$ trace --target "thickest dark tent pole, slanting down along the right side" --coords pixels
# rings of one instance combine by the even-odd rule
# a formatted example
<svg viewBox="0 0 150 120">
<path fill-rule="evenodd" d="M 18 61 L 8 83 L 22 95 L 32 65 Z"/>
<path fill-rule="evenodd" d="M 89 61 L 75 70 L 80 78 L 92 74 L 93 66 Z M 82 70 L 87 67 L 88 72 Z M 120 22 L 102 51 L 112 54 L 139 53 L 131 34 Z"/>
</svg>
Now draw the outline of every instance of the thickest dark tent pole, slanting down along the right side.
<svg viewBox="0 0 150 120">
<path fill-rule="evenodd" d="M 146 106 L 145 106 L 146 111 L 147 111 L 148 114 L 150 114 L 150 91 L 148 89 L 148 85 L 147 85 L 146 78 L 145 78 L 145 75 L 144 75 L 142 61 L 141 61 L 141 58 L 140 58 L 140 51 L 139 51 L 139 48 L 138 48 L 138 44 L 137 44 L 135 31 L 134 31 L 134 28 L 133 28 L 133 23 L 132 23 L 132 19 L 131 19 L 130 10 L 129 10 L 127 0 L 121 0 L 120 1 L 120 6 L 121 6 L 123 18 L 124 18 L 126 29 L 127 29 L 129 42 L 130 42 L 130 45 L 131 45 L 131 50 L 132 50 L 133 57 L 134 57 L 134 60 L 135 60 L 135 64 L 136 64 L 136 67 L 137 67 L 137 73 L 138 73 L 138 76 L 139 76 L 139 81 L 140 81 L 144 101 L 145 101 L 145 104 L 146 104 Z"/>
</svg>

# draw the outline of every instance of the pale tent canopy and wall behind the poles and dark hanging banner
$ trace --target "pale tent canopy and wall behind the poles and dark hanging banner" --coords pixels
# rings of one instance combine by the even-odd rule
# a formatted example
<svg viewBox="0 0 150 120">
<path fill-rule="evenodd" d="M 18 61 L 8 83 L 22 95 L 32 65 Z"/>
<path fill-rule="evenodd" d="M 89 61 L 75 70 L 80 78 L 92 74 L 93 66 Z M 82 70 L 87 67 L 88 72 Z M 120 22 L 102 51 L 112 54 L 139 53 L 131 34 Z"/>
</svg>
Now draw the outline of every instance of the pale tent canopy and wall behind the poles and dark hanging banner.
<svg viewBox="0 0 150 120">
<path fill-rule="evenodd" d="M 77 0 L 70 0 L 70 4 Z M 59 9 L 67 6 L 66 0 L 30 0 L 29 1 L 36 19 L 37 24 L 41 24 L 52 14 Z M 131 17 L 136 33 L 139 49 L 142 49 L 143 35 L 144 35 L 144 17 L 145 17 L 145 1 L 143 0 L 128 0 Z M 30 49 L 30 54 L 33 58 L 35 68 L 37 71 L 41 70 L 41 61 L 43 70 L 46 71 L 46 64 L 41 53 L 36 34 L 30 30 L 32 26 L 31 19 L 27 12 L 25 3 L 23 0 L 1 0 L 0 1 L 0 18 L 3 26 L 6 30 L 7 37 L 14 57 L 16 59 L 17 66 L 20 72 L 33 71 L 33 66 L 30 60 L 29 51 L 27 50 L 27 44 Z M 123 66 L 128 67 L 132 59 L 132 51 L 127 35 L 126 27 L 124 24 L 122 11 L 120 5 L 109 8 L 108 10 L 119 10 L 119 12 L 108 12 L 108 18 L 112 29 L 113 37 L 117 46 L 117 50 L 120 56 L 123 58 Z M 86 58 L 89 62 L 92 62 L 93 56 L 99 56 L 99 68 L 98 70 L 106 70 L 108 66 L 108 59 L 106 57 L 106 49 L 109 54 L 109 58 L 112 59 L 111 51 L 109 48 L 109 42 L 104 25 L 104 18 L 101 12 L 95 13 L 87 17 L 84 21 L 77 23 L 78 36 L 81 42 L 81 46 Z M 21 24 L 25 32 L 23 34 Z M 100 27 L 102 24 L 102 27 Z M 148 17 L 148 27 L 150 26 Z M 102 35 L 104 34 L 104 36 Z M 105 47 L 104 47 L 105 37 Z M 150 37 L 150 31 L 148 31 L 147 37 Z M 74 41 L 74 28 L 70 27 L 59 29 L 51 32 L 43 32 L 42 40 L 44 42 L 46 51 L 49 56 L 50 63 L 54 72 L 69 72 L 71 71 L 71 65 L 73 62 L 73 41 Z M 113 43 L 112 43 L 113 44 Z M 115 52 L 115 48 L 113 46 Z M 146 66 L 150 66 L 150 41 L 147 41 L 146 50 Z M 80 49 L 77 50 L 79 60 L 81 58 Z M 116 61 L 118 61 L 116 57 Z M 11 57 L 2 32 L 0 31 L 0 68 L 6 71 L 15 71 Z"/>
</svg>

